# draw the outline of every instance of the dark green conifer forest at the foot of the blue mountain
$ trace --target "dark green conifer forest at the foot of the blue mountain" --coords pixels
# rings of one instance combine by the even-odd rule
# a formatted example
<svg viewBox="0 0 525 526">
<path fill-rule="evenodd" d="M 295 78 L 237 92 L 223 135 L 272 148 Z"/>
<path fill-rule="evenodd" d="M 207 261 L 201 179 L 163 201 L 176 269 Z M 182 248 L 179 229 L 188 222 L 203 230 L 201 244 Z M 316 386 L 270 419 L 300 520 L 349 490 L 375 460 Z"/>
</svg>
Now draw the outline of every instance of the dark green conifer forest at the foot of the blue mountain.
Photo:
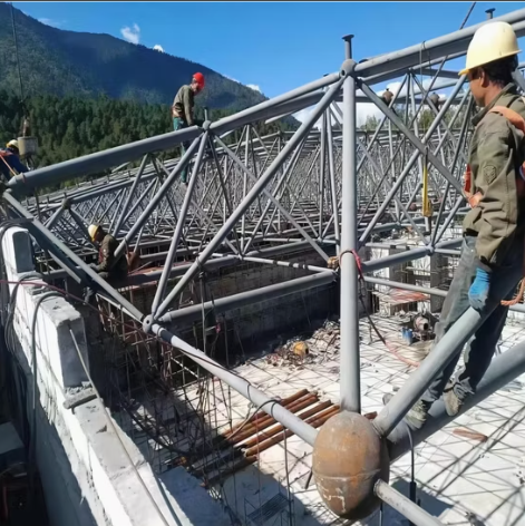
<svg viewBox="0 0 525 526">
<path fill-rule="evenodd" d="M 78 98 L 42 95 L 29 98 L 26 106 L 31 117 L 31 134 L 39 139 L 38 166 L 173 130 L 169 105 L 145 105 L 107 96 Z M 202 118 L 202 108 L 197 108 L 197 117 Z M 212 109 L 208 117 L 217 120 L 232 113 Z M 19 136 L 22 118 L 23 109 L 17 95 L 0 90 L 0 146 Z M 256 126 L 261 135 L 289 128 L 285 123 L 260 123 Z"/>
</svg>

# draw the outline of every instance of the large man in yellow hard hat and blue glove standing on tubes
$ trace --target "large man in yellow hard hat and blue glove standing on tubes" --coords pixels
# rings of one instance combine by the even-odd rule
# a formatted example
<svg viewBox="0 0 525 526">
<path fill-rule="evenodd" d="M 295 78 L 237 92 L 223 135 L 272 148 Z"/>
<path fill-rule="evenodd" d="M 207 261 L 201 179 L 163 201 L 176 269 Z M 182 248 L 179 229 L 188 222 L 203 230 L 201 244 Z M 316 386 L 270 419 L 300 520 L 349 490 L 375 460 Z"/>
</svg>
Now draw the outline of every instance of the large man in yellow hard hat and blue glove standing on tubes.
<svg viewBox="0 0 525 526">
<path fill-rule="evenodd" d="M 453 377 L 460 350 L 434 379 L 405 418 L 419 429 L 441 394 L 446 411 L 456 416 L 490 364 L 516 284 L 523 276 L 525 183 L 521 165 L 525 144 L 525 104 L 513 81 L 517 67 L 516 35 L 508 23 L 487 22 L 474 35 L 466 67 L 470 91 L 480 111 L 474 117 L 465 194 L 471 210 L 464 220 L 458 267 L 436 324 L 436 343 L 469 306 L 485 321 L 465 352 L 465 367 Z M 524 174 L 525 175 L 525 174 Z M 507 302 L 508 303 L 508 302 Z M 448 382 L 448 384 L 447 384 Z M 383 397 L 388 403 L 392 394 Z"/>
</svg>

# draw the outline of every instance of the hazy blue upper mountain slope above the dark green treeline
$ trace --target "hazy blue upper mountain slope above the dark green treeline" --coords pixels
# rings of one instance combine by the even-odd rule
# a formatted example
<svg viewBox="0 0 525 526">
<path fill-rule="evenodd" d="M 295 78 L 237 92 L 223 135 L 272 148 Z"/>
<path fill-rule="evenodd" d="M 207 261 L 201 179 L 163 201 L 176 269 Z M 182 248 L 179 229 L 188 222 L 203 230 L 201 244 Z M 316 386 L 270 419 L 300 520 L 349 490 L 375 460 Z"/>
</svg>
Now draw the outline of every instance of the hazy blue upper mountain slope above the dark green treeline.
<svg viewBox="0 0 525 526">
<path fill-rule="evenodd" d="M 146 4 L 145 4 L 146 6 Z M 265 100 L 201 64 L 111 37 L 51 28 L 14 9 L 20 70 L 29 96 L 52 94 L 171 104 L 195 71 L 206 77 L 200 103 L 240 110 Z M 0 2 L 0 89 L 19 92 L 11 6 Z"/>
</svg>

